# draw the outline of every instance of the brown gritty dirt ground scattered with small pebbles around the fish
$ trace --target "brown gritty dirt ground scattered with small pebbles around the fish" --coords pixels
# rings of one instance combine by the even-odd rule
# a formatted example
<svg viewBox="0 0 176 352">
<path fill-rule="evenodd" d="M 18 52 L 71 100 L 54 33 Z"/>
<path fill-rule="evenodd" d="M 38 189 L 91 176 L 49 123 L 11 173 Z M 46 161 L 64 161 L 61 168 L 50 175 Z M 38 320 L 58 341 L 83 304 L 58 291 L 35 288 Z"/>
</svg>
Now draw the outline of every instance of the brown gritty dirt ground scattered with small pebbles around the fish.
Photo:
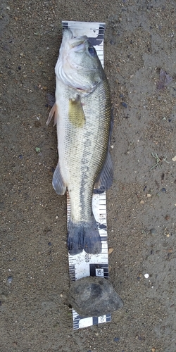
<svg viewBox="0 0 176 352">
<path fill-rule="evenodd" d="M 175 18 L 175 0 L 1 0 L 1 352 L 176 351 Z M 51 184 L 56 127 L 46 127 L 61 20 L 106 22 L 110 280 L 124 301 L 112 322 L 76 332 L 65 196 Z"/>
</svg>

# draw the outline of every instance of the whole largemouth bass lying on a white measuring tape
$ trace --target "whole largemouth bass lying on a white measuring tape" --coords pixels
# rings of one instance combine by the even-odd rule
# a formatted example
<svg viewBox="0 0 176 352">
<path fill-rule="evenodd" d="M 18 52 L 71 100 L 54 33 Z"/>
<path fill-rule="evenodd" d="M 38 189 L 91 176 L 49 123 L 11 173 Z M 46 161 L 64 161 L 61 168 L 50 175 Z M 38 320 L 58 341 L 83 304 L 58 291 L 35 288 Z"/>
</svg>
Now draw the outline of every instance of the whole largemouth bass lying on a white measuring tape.
<svg viewBox="0 0 176 352">
<path fill-rule="evenodd" d="M 112 117 L 111 96 L 106 75 L 94 46 L 86 36 L 73 37 L 69 29 L 55 67 L 58 165 L 53 187 L 57 194 L 70 196 L 68 250 L 101 253 L 101 239 L 92 213 L 92 194 L 104 191 L 113 182 L 109 152 Z"/>
</svg>

